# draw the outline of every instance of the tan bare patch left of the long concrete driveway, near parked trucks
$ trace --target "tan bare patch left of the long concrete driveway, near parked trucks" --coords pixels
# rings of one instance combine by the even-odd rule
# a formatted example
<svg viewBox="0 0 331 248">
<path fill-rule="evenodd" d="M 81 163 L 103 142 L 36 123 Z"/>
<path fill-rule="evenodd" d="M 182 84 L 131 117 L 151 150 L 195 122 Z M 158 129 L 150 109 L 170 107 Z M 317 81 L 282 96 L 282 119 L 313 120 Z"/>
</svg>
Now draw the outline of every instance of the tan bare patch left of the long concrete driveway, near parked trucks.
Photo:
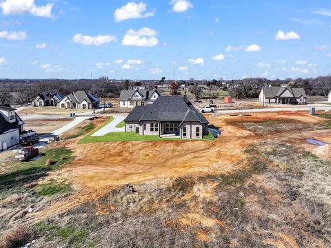
<svg viewBox="0 0 331 248">
<path fill-rule="evenodd" d="M 26 123 L 24 128 L 26 130 L 35 130 L 38 134 L 48 134 L 70 123 L 70 121 L 72 121 L 72 118 L 26 120 L 24 121 Z"/>
</svg>

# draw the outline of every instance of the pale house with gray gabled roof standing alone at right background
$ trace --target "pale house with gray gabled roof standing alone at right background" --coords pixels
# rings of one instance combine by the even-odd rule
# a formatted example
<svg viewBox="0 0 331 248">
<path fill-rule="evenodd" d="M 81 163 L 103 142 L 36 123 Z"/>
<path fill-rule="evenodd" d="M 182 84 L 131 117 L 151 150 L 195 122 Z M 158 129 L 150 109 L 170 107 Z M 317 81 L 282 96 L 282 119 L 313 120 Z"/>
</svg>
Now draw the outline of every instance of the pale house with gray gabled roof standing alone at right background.
<svg viewBox="0 0 331 248">
<path fill-rule="evenodd" d="M 302 87 L 266 86 L 260 92 L 259 102 L 264 104 L 305 104 L 307 94 Z"/>
</svg>

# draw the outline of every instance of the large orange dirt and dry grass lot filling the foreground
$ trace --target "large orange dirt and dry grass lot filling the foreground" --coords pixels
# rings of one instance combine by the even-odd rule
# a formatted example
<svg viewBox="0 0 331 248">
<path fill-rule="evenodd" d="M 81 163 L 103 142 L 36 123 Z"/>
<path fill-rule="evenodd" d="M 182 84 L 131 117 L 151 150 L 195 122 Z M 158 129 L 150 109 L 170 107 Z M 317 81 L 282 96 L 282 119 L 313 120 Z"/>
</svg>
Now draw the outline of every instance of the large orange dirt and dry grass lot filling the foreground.
<svg viewBox="0 0 331 248">
<path fill-rule="evenodd" d="M 305 138 L 331 143 L 330 119 L 207 117 L 216 141 L 52 145 L 74 159 L 37 183 L 66 180 L 73 192 L 42 198 L 5 229 L 26 223 L 33 247 L 328 247 L 330 147 Z"/>
</svg>

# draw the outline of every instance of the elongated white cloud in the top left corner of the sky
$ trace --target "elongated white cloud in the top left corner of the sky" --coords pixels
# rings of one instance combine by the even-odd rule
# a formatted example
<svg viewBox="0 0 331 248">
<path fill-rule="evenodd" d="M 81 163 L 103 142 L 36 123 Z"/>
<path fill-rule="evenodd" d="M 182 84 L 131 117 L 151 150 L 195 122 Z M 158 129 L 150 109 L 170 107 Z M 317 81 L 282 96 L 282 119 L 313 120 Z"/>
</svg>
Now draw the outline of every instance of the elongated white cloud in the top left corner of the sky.
<svg viewBox="0 0 331 248">
<path fill-rule="evenodd" d="M 32 14 L 35 17 L 52 17 L 53 3 L 46 6 L 36 6 L 34 0 L 6 0 L 0 3 L 2 14 Z"/>
</svg>

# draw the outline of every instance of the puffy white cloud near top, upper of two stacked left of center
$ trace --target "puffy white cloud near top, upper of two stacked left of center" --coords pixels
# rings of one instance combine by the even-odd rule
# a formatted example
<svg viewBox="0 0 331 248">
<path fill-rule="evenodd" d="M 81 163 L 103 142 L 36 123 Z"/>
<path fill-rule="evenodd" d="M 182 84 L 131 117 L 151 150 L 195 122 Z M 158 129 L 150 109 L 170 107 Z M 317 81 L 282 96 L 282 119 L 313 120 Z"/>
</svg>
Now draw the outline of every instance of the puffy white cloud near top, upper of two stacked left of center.
<svg viewBox="0 0 331 248">
<path fill-rule="evenodd" d="M 114 12 L 114 20 L 116 22 L 128 19 L 147 18 L 154 16 L 154 12 L 147 12 L 146 3 L 126 3 L 125 6 L 118 8 Z"/>
</svg>

